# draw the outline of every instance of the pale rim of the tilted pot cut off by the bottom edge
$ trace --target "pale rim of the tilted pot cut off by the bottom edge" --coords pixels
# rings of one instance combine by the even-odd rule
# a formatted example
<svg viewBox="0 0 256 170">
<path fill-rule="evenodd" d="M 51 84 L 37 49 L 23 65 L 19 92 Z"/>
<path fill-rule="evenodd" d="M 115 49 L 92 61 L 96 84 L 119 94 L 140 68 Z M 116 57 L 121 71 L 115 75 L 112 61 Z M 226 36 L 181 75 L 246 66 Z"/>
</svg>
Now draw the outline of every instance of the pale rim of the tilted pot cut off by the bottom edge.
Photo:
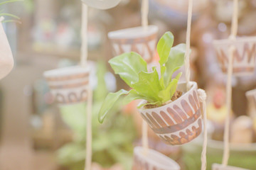
<svg viewBox="0 0 256 170">
<path fill-rule="evenodd" d="M 161 154 L 160 152 L 155 151 L 154 149 L 148 149 L 148 154 L 144 155 L 143 147 L 134 147 L 134 153 L 139 155 L 144 161 L 149 162 L 150 164 L 153 164 L 154 166 L 159 167 L 159 169 L 169 169 L 169 170 L 179 170 L 181 167 L 178 165 L 177 162 L 175 162 L 173 159 L 167 157 L 164 154 Z M 154 158 L 153 158 L 154 157 Z M 161 163 L 157 162 L 155 158 L 158 158 L 161 160 Z M 149 161 L 147 161 L 149 160 Z"/>
</svg>

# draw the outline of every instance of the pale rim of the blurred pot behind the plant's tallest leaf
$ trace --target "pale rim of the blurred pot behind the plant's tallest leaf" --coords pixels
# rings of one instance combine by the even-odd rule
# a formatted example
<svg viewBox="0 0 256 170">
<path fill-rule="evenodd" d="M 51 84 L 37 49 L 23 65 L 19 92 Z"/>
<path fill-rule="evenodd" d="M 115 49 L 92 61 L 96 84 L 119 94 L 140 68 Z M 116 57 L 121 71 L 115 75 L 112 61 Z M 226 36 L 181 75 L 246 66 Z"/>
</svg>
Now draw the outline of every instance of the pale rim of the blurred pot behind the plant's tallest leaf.
<svg viewBox="0 0 256 170">
<path fill-rule="evenodd" d="M 122 30 L 114 30 L 107 33 L 110 39 L 134 39 L 134 38 L 145 38 L 149 35 L 157 33 L 159 28 L 154 25 L 147 26 L 146 28 L 139 26 L 133 28 L 125 28 Z"/>
</svg>

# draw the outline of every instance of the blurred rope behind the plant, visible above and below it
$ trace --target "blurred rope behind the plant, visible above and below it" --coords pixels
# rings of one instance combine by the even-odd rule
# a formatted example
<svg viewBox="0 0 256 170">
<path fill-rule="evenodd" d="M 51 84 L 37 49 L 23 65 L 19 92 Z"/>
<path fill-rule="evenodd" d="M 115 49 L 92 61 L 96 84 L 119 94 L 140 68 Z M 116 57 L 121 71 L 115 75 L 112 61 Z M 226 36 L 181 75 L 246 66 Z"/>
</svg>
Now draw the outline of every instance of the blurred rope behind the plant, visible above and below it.
<svg viewBox="0 0 256 170">
<path fill-rule="evenodd" d="M 142 0 L 142 26 L 144 29 L 149 25 L 149 0 Z M 147 154 L 149 149 L 149 137 L 148 137 L 148 125 L 145 120 L 142 120 L 142 147 L 144 148 L 144 154 Z"/>
</svg>

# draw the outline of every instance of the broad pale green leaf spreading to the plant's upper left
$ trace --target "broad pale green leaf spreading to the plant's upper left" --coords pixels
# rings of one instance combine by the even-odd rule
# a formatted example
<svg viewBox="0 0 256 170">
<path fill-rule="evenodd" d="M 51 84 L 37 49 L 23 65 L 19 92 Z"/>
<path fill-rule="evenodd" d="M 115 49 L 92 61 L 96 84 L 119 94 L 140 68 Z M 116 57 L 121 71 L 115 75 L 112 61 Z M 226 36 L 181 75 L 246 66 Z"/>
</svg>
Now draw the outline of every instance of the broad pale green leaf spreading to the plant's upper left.
<svg viewBox="0 0 256 170">
<path fill-rule="evenodd" d="M 131 86 L 132 83 L 139 81 L 139 72 L 146 72 L 147 66 L 145 60 L 136 52 L 128 52 L 109 61 L 115 74 Z"/>
</svg>

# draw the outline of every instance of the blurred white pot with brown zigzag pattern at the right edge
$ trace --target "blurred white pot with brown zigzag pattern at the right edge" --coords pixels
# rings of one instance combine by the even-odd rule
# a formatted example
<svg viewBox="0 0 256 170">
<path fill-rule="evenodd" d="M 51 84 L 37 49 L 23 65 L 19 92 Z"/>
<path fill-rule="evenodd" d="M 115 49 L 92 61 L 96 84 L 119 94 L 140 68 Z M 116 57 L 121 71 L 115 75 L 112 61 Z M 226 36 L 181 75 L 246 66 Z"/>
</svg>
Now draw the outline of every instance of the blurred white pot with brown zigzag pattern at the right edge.
<svg viewBox="0 0 256 170">
<path fill-rule="evenodd" d="M 256 58 L 256 37 L 237 38 L 236 40 L 214 40 L 213 45 L 222 71 L 228 72 L 229 47 L 235 46 L 233 74 L 246 76 L 253 74 Z"/>
</svg>

